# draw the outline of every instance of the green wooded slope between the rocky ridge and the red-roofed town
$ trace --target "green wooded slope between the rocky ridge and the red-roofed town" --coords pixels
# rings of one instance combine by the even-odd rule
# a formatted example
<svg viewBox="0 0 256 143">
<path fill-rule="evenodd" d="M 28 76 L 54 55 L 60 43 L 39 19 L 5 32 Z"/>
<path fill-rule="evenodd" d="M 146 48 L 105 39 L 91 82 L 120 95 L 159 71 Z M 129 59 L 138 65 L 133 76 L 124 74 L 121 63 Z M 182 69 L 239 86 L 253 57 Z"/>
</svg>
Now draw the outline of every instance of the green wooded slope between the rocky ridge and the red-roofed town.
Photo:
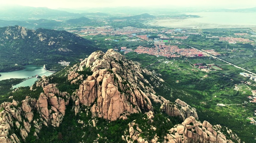
<svg viewBox="0 0 256 143">
<path fill-rule="evenodd" d="M 155 88 L 158 95 L 164 96 L 170 101 L 179 98 L 197 109 L 201 122 L 206 120 L 213 125 L 220 124 L 228 127 L 246 143 L 254 141 L 255 135 L 252 133 L 256 131 L 256 128 L 255 125 L 250 124 L 247 117 L 253 117 L 255 104 L 243 103 L 244 101 L 249 102 L 247 96 L 251 96 L 250 89 L 255 89 L 255 82 L 240 76 L 239 73 L 243 71 L 208 58 L 187 60 L 164 58 L 164 61 L 171 61 L 169 64 L 164 64 L 164 61 L 157 61 L 162 58 L 156 58 L 153 55 L 129 53 L 126 56 L 134 61 L 143 61 L 142 66 L 162 75 L 161 78 L 165 80 L 165 84 L 170 90 Z M 153 64 L 150 65 L 150 63 Z M 190 66 L 194 63 L 214 63 L 223 70 L 210 73 L 192 71 L 192 69 L 199 70 Z M 203 77 L 205 75 L 208 76 Z M 143 76 L 147 78 L 147 76 Z M 241 81 L 250 81 L 252 85 L 243 85 Z M 243 87 L 242 91 L 234 90 L 235 85 Z M 241 105 L 218 107 L 219 103 Z"/>
</svg>

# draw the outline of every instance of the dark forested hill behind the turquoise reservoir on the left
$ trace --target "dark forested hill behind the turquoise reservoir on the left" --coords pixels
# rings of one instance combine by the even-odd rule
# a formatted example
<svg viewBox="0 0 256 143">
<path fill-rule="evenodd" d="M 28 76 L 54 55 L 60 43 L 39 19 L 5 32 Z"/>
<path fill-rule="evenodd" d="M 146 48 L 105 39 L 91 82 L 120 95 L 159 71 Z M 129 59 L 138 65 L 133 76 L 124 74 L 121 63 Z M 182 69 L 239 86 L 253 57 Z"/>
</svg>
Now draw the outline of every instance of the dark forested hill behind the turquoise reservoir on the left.
<svg viewBox="0 0 256 143">
<path fill-rule="evenodd" d="M 27 64 L 49 64 L 51 69 L 60 60 L 77 63 L 97 50 L 91 41 L 66 31 L 26 29 L 27 35 L 22 35 L 18 26 L 9 26 L 0 28 L 0 34 L 0 71 Z"/>
</svg>

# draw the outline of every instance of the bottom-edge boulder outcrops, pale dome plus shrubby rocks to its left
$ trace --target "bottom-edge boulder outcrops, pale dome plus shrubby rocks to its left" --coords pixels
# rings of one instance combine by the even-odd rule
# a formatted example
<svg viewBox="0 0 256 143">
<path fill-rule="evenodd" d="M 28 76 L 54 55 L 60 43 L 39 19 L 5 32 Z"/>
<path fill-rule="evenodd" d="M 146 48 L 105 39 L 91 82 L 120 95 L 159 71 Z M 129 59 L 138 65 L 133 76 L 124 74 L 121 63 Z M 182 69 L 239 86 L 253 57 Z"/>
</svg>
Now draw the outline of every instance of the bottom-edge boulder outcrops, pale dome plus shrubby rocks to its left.
<svg viewBox="0 0 256 143">
<path fill-rule="evenodd" d="M 147 118 L 143 118 L 145 120 L 144 124 L 138 124 L 136 120 L 128 124 L 129 127 L 122 136 L 122 139 L 127 143 L 133 143 L 134 141 L 138 143 L 159 143 L 160 140 L 162 140 L 162 143 L 233 143 L 222 133 L 223 130 L 220 125 L 212 126 L 207 121 L 200 123 L 192 116 L 186 118 L 182 124 L 175 125 L 168 130 L 166 136 L 161 139 L 155 133 L 158 127 L 154 126 L 154 121 L 152 120 L 154 116 L 148 116 L 151 114 L 150 112 L 145 114 L 147 114 Z M 147 122 L 153 124 L 147 124 Z M 226 130 L 229 131 L 230 137 L 233 137 L 232 139 L 241 143 L 236 134 L 233 134 L 229 129 Z M 145 131 L 147 132 L 146 134 L 144 133 Z M 141 136 L 141 134 L 143 135 Z M 146 136 L 147 134 L 150 134 L 150 136 Z"/>
</svg>

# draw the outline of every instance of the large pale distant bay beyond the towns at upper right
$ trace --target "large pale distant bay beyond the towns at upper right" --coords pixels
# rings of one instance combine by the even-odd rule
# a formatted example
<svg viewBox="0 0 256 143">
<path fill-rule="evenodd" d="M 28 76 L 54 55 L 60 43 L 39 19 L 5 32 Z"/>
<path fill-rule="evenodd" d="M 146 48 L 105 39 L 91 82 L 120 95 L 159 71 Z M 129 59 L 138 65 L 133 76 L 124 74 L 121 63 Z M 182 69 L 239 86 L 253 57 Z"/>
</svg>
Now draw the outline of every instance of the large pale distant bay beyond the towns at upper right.
<svg viewBox="0 0 256 143">
<path fill-rule="evenodd" d="M 251 28 L 256 30 L 256 12 L 195 12 L 187 15 L 199 15 L 201 18 L 160 19 L 149 25 L 171 28 Z"/>
</svg>

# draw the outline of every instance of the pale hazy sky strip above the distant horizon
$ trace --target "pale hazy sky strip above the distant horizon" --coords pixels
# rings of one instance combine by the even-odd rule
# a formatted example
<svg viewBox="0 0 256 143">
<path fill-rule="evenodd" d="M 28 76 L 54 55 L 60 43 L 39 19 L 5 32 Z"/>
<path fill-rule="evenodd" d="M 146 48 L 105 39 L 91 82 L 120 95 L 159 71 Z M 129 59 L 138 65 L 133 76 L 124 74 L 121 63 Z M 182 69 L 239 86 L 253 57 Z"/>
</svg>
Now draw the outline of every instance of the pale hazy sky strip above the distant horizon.
<svg viewBox="0 0 256 143">
<path fill-rule="evenodd" d="M 180 7 L 256 7 L 256 0 L 0 0 L 0 5 L 18 4 L 33 7 L 49 7 L 56 9 L 75 7 L 120 7 L 120 6 L 180 6 Z"/>
</svg>

